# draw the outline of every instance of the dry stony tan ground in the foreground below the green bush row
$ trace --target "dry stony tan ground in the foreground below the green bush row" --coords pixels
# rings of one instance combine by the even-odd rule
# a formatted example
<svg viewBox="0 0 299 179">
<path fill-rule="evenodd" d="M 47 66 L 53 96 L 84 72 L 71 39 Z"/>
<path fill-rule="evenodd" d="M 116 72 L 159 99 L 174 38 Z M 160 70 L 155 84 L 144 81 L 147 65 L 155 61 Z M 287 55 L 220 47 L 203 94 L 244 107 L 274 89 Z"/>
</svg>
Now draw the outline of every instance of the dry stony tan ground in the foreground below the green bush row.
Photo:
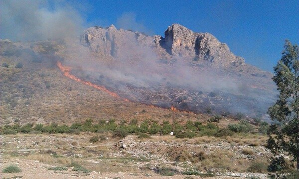
<svg viewBox="0 0 299 179">
<path fill-rule="evenodd" d="M 180 140 L 172 136 L 151 139 L 128 136 L 117 140 L 109 134 L 108 140 L 92 144 L 88 139 L 93 135 L 0 136 L 0 171 L 11 164 L 22 170 L 16 174 L 0 173 L 0 176 L 6 179 L 267 178 L 267 174 L 246 172 L 246 166 L 251 163 L 269 159 L 270 152 L 262 146 L 229 144 L 221 139 Z M 75 172 L 72 167 L 66 171 L 48 170 L 49 167 L 68 166 L 73 161 L 90 173 Z M 208 164 L 211 161 L 219 164 Z M 159 175 L 162 168 L 173 170 L 174 176 Z M 191 168 L 197 168 L 197 176 L 182 175 Z M 207 174 L 213 175 L 208 177 Z"/>
</svg>

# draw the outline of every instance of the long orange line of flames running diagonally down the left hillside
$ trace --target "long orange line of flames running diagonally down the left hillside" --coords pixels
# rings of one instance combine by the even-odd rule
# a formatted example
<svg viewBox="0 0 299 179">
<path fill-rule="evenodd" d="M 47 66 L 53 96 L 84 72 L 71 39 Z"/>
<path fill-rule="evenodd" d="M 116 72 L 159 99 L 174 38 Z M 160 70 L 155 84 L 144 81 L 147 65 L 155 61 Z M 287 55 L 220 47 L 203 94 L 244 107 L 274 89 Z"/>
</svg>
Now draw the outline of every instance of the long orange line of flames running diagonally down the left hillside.
<svg viewBox="0 0 299 179">
<path fill-rule="evenodd" d="M 85 85 L 92 86 L 92 87 L 94 87 L 94 88 L 96 88 L 96 89 L 98 89 L 98 90 L 104 91 L 104 92 L 110 94 L 110 95 L 113 96 L 113 97 L 118 97 L 118 98 L 119 98 L 119 95 L 117 95 L 117 94 L 114 93 L 114 92 L 109 91 L 109 90 L 106 89 L 104 86 L 99 86 L 99 85 L 93 84 L 93 83 L 90 82 L 90 81 L 83 81 L 83 80 L 81 80 L 80 78 L 78 78 L 78 77 L 76 77 L 76 76 L 70 74 L 70 71 L 71 71 L 72 68 L 71 68 L 71 67 L 68 67 L 68 66 L 63 66 L 62 63 L 61 63 L 60 61 L 57 61 L 56 64 L 57 64 L 58 68 L 60 69 L 60 71 L 63 72 L 64 76 L 66 76 L 66 77 L 68 77 L 68 78 L 70 78 L 70 79 L 72 79 L 72 80 L 75 80 L 75 81 L 77 81 L 77 82 L 81 82 L 81 83 L 83 83 L 83 84 L 85 84 Z M 124 99 L 124 100 L 125 100 L 125 101 L 129 101 L 128 99 Z"/>
</svg>

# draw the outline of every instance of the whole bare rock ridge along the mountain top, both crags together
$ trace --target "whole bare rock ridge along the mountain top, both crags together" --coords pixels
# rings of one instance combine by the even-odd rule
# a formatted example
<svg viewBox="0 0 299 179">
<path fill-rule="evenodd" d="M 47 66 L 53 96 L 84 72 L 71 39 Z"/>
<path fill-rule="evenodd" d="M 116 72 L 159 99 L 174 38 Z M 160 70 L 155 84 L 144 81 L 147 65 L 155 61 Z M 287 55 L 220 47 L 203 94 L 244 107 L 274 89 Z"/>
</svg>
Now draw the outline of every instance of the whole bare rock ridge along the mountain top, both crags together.
<svg viewBox="0 0 299 179">
<path fill-rule="evenodd" d="M 84 31 L 81 43 L 98 54 L 108 54 L 119 58 L 141 55 L 142 51 L 161 51 L 172 56 L 187 57 L 192 60 L 206 60 L 218 65 L 243 64 L 244 59 L 234 55 L 225 43 L 221 43 L 210 33 L 196 33 L 180 25 L 172 24 L 165 31 L 165 37 L 148 36 L 141 32 L 91 27 Z M 168 55 L 169 55 L 168 54 Z M 166 55 L 166 54 L 165 54 Z"/>
</svg>

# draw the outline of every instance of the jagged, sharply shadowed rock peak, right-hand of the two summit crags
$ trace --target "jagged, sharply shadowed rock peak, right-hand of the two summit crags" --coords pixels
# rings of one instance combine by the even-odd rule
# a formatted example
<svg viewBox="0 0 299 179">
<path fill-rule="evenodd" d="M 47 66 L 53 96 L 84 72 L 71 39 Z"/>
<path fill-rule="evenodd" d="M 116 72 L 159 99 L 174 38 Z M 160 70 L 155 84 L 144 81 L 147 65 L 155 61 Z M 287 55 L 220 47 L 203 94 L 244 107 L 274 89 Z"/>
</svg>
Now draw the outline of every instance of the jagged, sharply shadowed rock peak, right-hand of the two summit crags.
<svg viewBox="0 0 299 179">
<path fill-rule="evenodd" d="M 222 65 L 242 64 L 244 59 L 235 56 L 225 43 L 210 33 L 196 33 L 174 23 L 165 31 L 165 46 L 172 55 L 191 56 L 195 60 L 207 60 Z"/>
</svg>

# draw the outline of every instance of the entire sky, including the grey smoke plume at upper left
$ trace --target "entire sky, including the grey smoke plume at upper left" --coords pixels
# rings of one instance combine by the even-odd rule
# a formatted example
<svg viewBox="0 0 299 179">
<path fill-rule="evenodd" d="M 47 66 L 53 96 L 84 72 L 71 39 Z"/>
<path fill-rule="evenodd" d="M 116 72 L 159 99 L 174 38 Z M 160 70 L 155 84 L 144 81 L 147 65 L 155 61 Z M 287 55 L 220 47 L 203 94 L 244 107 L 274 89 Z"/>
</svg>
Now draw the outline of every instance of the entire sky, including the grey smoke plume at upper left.
<svg viewBox="0 0 299 179">
<path fill-rule="evenodd" d="M 209 32 L 246 63 L 273 72 L 285 39 L 299 44 L 299 0 L 0 0 L 0 38 L 12 40 L 111 24 L 164 36 L 172 23 Z"/>
</svg>

